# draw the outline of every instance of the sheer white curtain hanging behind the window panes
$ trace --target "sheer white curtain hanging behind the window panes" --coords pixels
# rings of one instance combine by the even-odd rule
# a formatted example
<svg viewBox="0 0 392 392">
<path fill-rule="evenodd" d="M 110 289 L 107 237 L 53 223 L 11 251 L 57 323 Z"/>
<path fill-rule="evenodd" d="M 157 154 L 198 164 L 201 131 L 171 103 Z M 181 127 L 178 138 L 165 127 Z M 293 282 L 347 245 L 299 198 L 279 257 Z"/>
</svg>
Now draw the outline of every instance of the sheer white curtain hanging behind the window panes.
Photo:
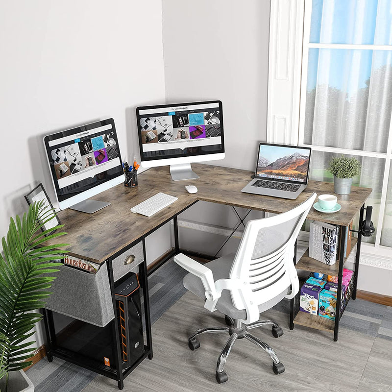
<svg viewBox="0 0 392 392">
<path fill-rule="evenodd" d="M 391 15 L 391 0 L 314 1 L 311 41 L 313 37 L 315 43 L 391 45 Z M 306 144 L 386 152 L 391 108 L 392 51 L 309 49 Z M 338 154 L 315 151 L 313 179 L 325 179 L 321 169 L 334 155 Z M 362 171 L 356 182 L 373 189 L 368 203 L 375 207 L 375 218 L 385 160 L 357 158 Z"/>
</svg>

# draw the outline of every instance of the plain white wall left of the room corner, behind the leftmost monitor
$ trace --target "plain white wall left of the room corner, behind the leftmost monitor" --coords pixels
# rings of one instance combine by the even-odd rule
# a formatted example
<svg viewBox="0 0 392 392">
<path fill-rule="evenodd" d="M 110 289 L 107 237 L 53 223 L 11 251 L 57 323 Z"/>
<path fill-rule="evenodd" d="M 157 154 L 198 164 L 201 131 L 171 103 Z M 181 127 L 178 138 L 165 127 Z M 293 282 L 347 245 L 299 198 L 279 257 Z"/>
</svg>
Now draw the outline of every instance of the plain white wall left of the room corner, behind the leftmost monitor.
<svg viewBox="0 0 392 392">
<path fill-rule="evenodd" d="M 1 1 L 0 53 L 2 237 L 37 182 L 54 200 L 45 134 L 113 117 L 133 157 L 135 107 L 165 100 L 161 0 Z"/>
</svg>

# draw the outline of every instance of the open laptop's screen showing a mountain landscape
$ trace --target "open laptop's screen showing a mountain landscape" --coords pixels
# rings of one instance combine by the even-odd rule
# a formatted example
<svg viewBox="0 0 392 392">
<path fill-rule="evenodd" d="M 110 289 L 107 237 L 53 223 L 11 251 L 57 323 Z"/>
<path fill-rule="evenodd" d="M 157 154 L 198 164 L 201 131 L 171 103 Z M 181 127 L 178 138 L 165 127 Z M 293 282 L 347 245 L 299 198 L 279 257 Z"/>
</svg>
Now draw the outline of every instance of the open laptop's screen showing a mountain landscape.
<svg viewBox="0 0 392 392">
<path fill-rule="evenodd" d="M 309 147 L 260 143 L 256 177 L 306 184 L 310 151 Z"/>
</svg>

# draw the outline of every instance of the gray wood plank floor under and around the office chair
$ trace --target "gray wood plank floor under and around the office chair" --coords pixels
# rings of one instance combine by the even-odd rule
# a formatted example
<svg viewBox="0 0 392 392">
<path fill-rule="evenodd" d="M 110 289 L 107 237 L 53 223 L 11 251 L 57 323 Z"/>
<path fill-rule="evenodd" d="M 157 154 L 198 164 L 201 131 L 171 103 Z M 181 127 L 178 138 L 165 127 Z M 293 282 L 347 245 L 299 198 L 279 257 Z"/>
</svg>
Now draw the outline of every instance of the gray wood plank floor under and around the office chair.
<svg viewBox="0 0 392 392">
<path fill-rule="evenodd" d="M 243 339 L 227 361 L 228 382 L 218 385 L 216 361 L 228 335 L 201 336 L 196 351 L 188 348 L 188 335 L 199 327 L 223 325 L 224 319 L 186 293 L 153 325 L 154 358 L 124 380 L 123 391 L 392 392 L 392 339 L 342 326 L 335 343 L 328 332 L 300 326 L 290 331 L 283 312 L 272 309 L 263 318 L 276 320 L 284 329 L 278 339 L 270 329 L 252 330 L 275 349 L 286 368 L 283 374 L 275 375 L 270 357 Z M 115 390 L 117 382 L 98 376 L 83 392 Z"/>
</svg>

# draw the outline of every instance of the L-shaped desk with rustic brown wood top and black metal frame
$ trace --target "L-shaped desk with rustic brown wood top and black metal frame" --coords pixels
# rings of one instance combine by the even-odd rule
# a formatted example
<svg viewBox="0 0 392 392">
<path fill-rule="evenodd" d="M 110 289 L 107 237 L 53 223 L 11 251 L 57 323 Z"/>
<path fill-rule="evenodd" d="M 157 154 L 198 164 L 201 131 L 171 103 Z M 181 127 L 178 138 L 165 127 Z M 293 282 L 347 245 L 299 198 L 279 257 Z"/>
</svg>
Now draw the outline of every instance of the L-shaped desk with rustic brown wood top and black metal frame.
<svg viewBox="0 0 392 392">
<path fill-rule="evenodd" d="M 146 357 L 152 359 L 151 324 L 149 318 L 148 283 L 147 276 L 156 270 L 173 255 L 184 252 L 180 247 L 178 239 L 177 217 L 197 201 L 203 200 L 213 203 L 226 204 L 233 207 L 259 210 L 279 214 L 294 208 L 302 203 L 313 192 L 320 194 L 333 194 L 333 184 L 321 181 L 309 181 L 305 191 L 295 200 L 288 200 L 270 196 L 259 196 L 245 194 L 241 189 L 250 181 L 252 172 L 220 166 L 204 164 L 193 164 L 194 171 L 200 176 L 196 180 L 172 181 L 169 167 L 152 168 L 139 174 L 139 185 L 135 188 L 127 188 L 118 185 L 94 197 L 96 200 L 109 201 L 110 206 L 94 213 L 93 215 L 67 209 L 59 213 L 59 218 L 64 224 L 64 230 L 68 233 L 66 242 L 69 245 L 65 253 L 92 261 L 101 266 L 106 266 L 108 271 L 108 287 L 110 287 L 114 311 L 116 311 L 115 282 L 120 278 L 130 275 L 129 271 L 139 266 L 139 281 L 144 297 L 144 319 L 146 328 L 145 350 L 132 366 L 123 369 L 121 356 L 121 342 L 118 333 L 118 321 L 114 317 L 110 321 L 112 331 L 112 342 L 115 346 L 115 364 L 104 366 L 97 364 L 90 358 L 84 357 L 79 352 L 59 347 L 56 342 L 56 331 L 53 323 L 51 310 L 44 309 L 44 321 L 47 336 L 47 352 L 49 361 L 53 355 L 81 367 L 91 369 L 97 373 L 118 381 L 118 386 L 123 389 L 123 379 Z M 188 194 L 184 186 L 196 185 L 198 192 Z M 146 200 L 148 197 L 163 192 L 177 196 L 178 200 L 164 208 L 151 217 L 134 214 L 130 208 Z M 337 195 L 338 203 L 342 205 L 339 212 L 323 214 L 311 209 L 307 219 L 323 221 L 338 225 L 340 227 L 340 242 L 343 244 L 348 226 L 359 212 L 359 222 L 363 221 L 365 201 L 371 193 L 369 188 L 352 187 L 349 195 Z M 155 230 L 173 220 L 174 224 L 174 247 L 160 261 L 147 271 L 146 262 L 146 237 Z M 54 244 L 56 240 L 51 240 Z M 357 246 L 354 246 L 354 245 Z M 355 269 L 352 283 L 351 297 L 356 297 L 356 286 L 359 266 L 359 254 L 361 247 L 361 233 L 358 238 L 352 239 L 352 248 L 356 250 Z M 334 333 L 334 340 L 338 340 L 339 321 L 342 317 L 346 303 L 342 301 L 342 275 L 344 257 L 344 246 L 340 246 L 339 260 L 332 266 L 327 266 L 319 261 L 311 259 L 307 252 L 296 262 L 298 269 L 327 273 L 339 276 L 338 298 L 336 307 L 336 319 L 326 319 L 319 316 L 298 312 L 299 294 L 291 300 L 290 328 L 294 324 L 305 325 L 312 328 L 327 330 Z M 355 249 L 356 248 L 356 249 Z M 192 255 L 192 253 L 191 253 Z M 348 255 L 347 255 L 348 256 Z M 65 267 L 64 267 L 65 268 Z M 72 270 L 72 269 L 71 269 Z M 80 299 L 83 301 L 83 298 Z M 97 299 L 98 300 L 98 299 Z M 347 301 L 348 302 L 348 301 Z"/>
</svg>

